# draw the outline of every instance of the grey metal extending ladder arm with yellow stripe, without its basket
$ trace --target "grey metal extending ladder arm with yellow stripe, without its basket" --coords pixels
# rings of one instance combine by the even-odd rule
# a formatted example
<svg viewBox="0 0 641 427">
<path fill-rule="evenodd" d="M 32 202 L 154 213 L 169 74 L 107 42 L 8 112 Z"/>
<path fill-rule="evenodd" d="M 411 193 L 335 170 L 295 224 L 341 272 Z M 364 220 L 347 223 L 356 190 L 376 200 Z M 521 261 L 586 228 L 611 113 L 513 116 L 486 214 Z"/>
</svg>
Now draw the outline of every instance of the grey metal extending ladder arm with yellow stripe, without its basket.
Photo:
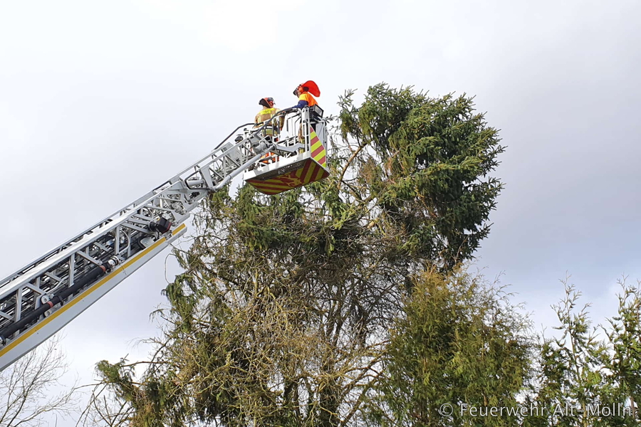
<svg viewBox="0 0 641 427">
<path fill-rule="evenodd" d="M 302 117 L 303 112 L 295 112 Z M 303 120 L 304 121 L 304 120 Z M 264 129 L 231 132 L 207 157 L 0 281 L 0 371 L 113 289 L 186 231 L 184 221 L 270 151 Z"/>
</svg>

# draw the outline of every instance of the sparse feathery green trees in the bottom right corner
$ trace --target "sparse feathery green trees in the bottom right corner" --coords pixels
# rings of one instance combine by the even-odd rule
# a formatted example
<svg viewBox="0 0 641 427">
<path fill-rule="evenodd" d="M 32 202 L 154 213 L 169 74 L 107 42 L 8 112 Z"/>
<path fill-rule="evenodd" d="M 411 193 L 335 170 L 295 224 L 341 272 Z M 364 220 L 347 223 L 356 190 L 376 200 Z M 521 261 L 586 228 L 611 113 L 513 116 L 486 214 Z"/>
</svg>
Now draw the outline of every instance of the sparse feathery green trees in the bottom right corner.
<svg viewBox="0 0 641 427">
<path fill-rule="evenodd" d="M 624 287 L 618 315 L 603 337 L 591 326 L 590 305 L 578 310 L 580 292 L 567 280 L 563 284 L 566 295 L 553 306 L 559 334 L 539 342 L 539 374 L 526 399 L 542 410 L 524 418 L 523 426 L 637 426 L 631 384 L 641 376 L 628 367 L 635 364 L 641 326 L 639 289 Z"/>
</svg>

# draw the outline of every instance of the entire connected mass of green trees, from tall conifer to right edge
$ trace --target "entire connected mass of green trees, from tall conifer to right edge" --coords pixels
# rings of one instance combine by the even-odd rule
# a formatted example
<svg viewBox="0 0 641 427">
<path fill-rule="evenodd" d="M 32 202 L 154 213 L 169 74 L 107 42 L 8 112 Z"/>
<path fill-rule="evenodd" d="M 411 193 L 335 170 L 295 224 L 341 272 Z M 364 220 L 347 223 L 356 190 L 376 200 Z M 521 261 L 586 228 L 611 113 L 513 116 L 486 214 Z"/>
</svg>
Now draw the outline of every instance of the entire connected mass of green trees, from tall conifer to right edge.
<svg viewBox="0 0 641 427">
<path fill-rule="evenodd" d="M 462 270 L 489 233 L 504 151 L 466 95 L 340 97 L 328 179 L 210 194 L 157 352 L 98 364 L 110 426 L 637 426 L 641 288 L 598 334 L 565 284 L 554 337 Z M 535 338 L 539 338 L 533 344 Z M 534 361 L 532 360 L 534 359 Z M 501 416 L 462 413 L 521 408 Z M 451 415 L 439 413 L 451 405 Z M 590 408 L 627 412 L 599 416 Z"/>
</svg>

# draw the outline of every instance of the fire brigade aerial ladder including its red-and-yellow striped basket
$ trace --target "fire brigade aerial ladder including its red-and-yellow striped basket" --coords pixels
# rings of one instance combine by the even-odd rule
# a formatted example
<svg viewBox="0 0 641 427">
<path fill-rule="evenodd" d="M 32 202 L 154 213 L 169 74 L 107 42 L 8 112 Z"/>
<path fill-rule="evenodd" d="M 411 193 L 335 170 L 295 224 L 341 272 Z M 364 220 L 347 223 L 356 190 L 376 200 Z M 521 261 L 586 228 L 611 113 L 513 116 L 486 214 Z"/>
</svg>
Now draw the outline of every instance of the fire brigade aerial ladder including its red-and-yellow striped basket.
<svg viewBox="0 0 641 427">
<path fill-rule="evenodd" d="M 0 371 L 177 241 L 190 212 L 235 176 L 264 194 L 328 176 L 327 122 L 315 105 L 241 125 L 206 157 L 0 280 Z"/>
</svg>

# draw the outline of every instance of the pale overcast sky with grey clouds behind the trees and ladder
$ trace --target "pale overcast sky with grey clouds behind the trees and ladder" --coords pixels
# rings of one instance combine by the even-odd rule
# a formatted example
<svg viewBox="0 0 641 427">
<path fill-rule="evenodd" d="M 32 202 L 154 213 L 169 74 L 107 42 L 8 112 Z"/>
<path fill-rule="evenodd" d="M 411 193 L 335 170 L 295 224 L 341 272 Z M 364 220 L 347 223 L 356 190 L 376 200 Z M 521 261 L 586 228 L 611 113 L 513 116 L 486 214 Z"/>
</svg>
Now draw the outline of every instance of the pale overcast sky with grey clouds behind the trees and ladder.
<svg viewBox="0 0 641 427">
<path fill-rule="evenodd" d="M 476 95 L 501 130 L 478 265 L 539 325 L 566 271 L 613 315 L 617 278 L 641 278 L 640 21 L 637 0 L 0 0 L 0 276 L 207 154 L 261 97 L 289 107 L 311 79 L 337 112 L 385 81 Z M 66 328 L 82 381 L 156 333 L 165 255 Z"/>
</svg>

